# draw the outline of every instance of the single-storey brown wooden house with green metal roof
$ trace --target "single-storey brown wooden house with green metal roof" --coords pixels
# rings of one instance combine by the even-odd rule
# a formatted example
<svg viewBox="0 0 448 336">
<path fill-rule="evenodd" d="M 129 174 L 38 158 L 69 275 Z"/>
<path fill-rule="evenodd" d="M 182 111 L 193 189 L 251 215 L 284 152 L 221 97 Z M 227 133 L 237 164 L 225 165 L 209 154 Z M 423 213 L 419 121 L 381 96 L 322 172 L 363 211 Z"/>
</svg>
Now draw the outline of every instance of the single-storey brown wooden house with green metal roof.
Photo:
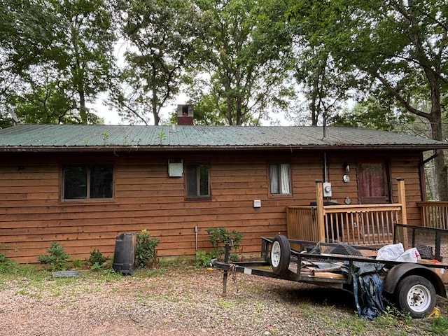
<svg viewBox="0 0 448 336">
<path fill-rule="evenodd" d="M 195 255 L 225 227 L 258 254 L 286 234 L 287 207 L 316 202 L 316 180 L 325 200 L 381 204 L 404 178 L 419 225 L 423 153 L 444 148 L 349 127 L 16 125 L 0 130 L 0 253 L 37 262 L 59 241 L 72 258 L 113 255 L 117 235 L 147 229 L 158 255 Z"/>
</svg>

